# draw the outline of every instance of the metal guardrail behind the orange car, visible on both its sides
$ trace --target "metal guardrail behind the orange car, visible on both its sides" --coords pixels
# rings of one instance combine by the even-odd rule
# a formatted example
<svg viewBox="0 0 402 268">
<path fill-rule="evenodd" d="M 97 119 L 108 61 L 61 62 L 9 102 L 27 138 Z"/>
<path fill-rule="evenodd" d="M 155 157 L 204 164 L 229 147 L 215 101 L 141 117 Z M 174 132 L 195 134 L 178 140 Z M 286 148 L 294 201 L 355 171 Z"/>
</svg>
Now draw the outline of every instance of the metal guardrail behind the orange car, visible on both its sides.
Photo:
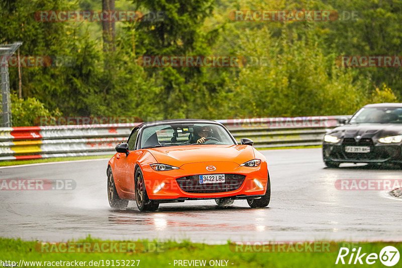
<svg viewBox="0 0 402 268">
<path fill-rule="evenodd" d="M 255 148 L 321 145 L 323 135 L 346 116 L 233 118 L 216 120 L 235 139 L 250 138 Z M 0 161 L 111 155 L 140 123 L 0 128 Z"/>
</svg>

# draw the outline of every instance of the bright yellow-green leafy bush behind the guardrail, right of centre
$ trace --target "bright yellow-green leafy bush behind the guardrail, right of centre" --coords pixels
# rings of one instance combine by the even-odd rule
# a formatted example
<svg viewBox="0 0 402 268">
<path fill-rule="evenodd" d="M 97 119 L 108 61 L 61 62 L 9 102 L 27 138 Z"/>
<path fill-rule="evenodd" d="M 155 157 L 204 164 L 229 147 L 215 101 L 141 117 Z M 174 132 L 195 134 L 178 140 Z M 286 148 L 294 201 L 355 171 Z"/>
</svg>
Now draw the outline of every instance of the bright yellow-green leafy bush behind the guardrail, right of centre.
<svg viewBox="0 0 402 268">
<path fill-rule="evenodd" d="M 284 32 L 279 38 L 264 27 L 256 36 L 246 31 L 239 48 L 259 64 L 242 68 L 230 86 L 241 113 L 227 116 L 302 116 L 353 113 L 364 101 L 367 85 L 353 82 L 350 69 L 334 66 L 335 55 L 325 55 L 314 37 Z"/>
</svg>

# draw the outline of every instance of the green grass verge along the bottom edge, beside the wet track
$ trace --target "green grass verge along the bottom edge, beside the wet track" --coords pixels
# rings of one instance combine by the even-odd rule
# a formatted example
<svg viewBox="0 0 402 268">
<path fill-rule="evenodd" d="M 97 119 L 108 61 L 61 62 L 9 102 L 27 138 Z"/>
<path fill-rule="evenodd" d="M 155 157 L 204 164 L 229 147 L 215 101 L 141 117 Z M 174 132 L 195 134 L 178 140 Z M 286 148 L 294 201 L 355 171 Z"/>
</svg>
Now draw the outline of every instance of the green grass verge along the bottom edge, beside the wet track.
<svg viewBox="0 0 402 268">
<path fill-rule="evenodd" d="M 79 244 L 79 242 L 90 243 L 92 248 L 94 249 L 95 244 L 105 244 L 109 243 L 108 240 L 98 240 L 92 239 L 90 236 L 85 238 L 84 240 L 79 240 L 74 242 L 75 245 Z M 118 241 L 123 243 L 124 241 Z M 130 242 L 130 241 L 125 241 Z M 309 243 L 309 242 L 306 242 Z M 317 243 L 317 242 L 316 242 Z M 328 243 L 328 242 L 327 242 Z M 372 259 L 371 261 L 375 261 L 374 264 L 366 264 L 365 260 L 368 254 L 376 253 L 377 256 L 380 254 L 381 249 L 384 246 L 394 246 L 399 251 L 402 249 L 401 242 L 331 242 L 336 247 L 331 246 L 331 252 L 294 252 L 289 251 L 288 245 L 283 247 L 282 250 L 277 249 L 279 252 L 249 252 L 251 250 L 260 249 L 263 250 L 263 247 L 247 247 L 242 246 L 240 252 L 236 251 L 236 246 L 234 243 L 229 243 L 225 245 L 209 245 L 204 243 L 191 243 L 189 241 L 182 242 L 156 242 L 156 241 L 147 241 L 147 240 L 138 240 L 136 244 L 142 244 L 140 252 L 123 252 L 123 253 L 99 253 L 99 251 L 90 252 L 90 253 L 48 253 L 49 244 L 46 244 L 47 247 L 44 247 L 43 244 L 38 243 L 37 241 L 23 241 L 21 239 L 9 239 L 9 238 L 0 238 L 0 259 L 2 261 L 10 260 L 15 261 L 17 263 L 16 266 L 20 266 L 20 260 L 25 267 L 43 267 L 43 266 L 51 266 L 48 261 L 85 261 L 85 267 L 91 266 L 119 266 L 118 261 L 120 262 L 120 266 L 122 265 L 122 261 L 124 260 L 124 266 L 140 266 L 140 267 L 178 267 L 184 265 L 178 265 L 178 260 L 205 260 L 205 265 L 198 266 L 219 266 L 219 265 L 210 265 L 210 261 L 221 261 L 218 262 L 221 266 L 228 267 L 336 267 L 336 266 L 353 266 L 353 262 L 355 261 L 356 252 L 361 247 L 360 255 L 362 253 L 366 253 L 364 257 L 362 257 L 363 264 L 357 264 L 359 267 L 384 267 L 381 263 L 380 259 Z M 64 244 L 65 245 L 65 244 Z M 42 247 L 41 247 L 42 246 Z M 345 265 L 335 264 L 337 259 L 339 248 L 347 247 L 350 249 L 348 255 L 344 257 Z M 47 248 L 44 250 L 43 248 Z M 54 248 L 62 248 L 60 244 L 54 245 Z M 66 248 L 66 247 L 64 247 Z M 71 248 L 69 245 L 68 249 Z M 84 247 L 82 247 L 84 248 Z M 81 248 L 81 249 L 82 249 Z M 100 247 L 102 248 L 102 246 Z M 136 247 L 140 248 L 140 247 Z M 247 249 L 249 248 L 249 249 Z M 295 247 L 293 247 L 295 248 Z M 306 248 L 306 247 L 299 247 Z M 314 246 L 313 246 L 314 248 Z M 352 248 L 356 248 L 356 252 L 351 260 L 350 265 L 348 265 L 349 258 L 352 253 Z M 58 251 L 57 249 L 56 251 Z M 308 247 L 307 247 L 308 250 Z M 45 253 L 43 253 L 45 251 Z M 75 251 L 77 251 L 75 249 Z M 90 250 L 89 250 L 90 251 Z M 127 250 L 126 250 L 127 251 Z M 247 251 L 247 252 L 241 252 Z M 272 251 L 272 247 L 271 250 Z M 391 256 L 391 253 L 387 253 Z M 384 257 L 383 257 L 384 258 Z M 135 261 L 134 261 L 135 260 Z M 139 263 L 137 260 L 140 260 Z M 31 261 L 30 263 L 28 261 Z M 38 263 L 41 262 L 41 263 Z M 91 262 L 91 264 L 89 264 Z M 95 264 L 94 261 L 97 263 Z M 227 262 L 226 262 L 227 261 Z M 84 263 L 84 264 L 85 264 Z M 129 265 L 127 265 L 129 263 Z M 56 264 L 54 262 L 54 264 Z M 52 266 L 55 266 L 55 265 Z M 113 264 L 113 265 L 112 265 Z M 134 264 L 134 265 L 133 265 Z M 188 263 L 187 263 L 188 264 Z M 214 264 L 217 264 L 215 262 Z M 223 265 L 222 265 L 223 264 Z M 66 265 L 66 263 L 59 263 L 59 267 L 67 267 L 71 265 Z M 186 266 L 197 266 L 197 265 L 186 265 Z M 395 265 L 395 267 L 398 265 Z"/>
</svg>

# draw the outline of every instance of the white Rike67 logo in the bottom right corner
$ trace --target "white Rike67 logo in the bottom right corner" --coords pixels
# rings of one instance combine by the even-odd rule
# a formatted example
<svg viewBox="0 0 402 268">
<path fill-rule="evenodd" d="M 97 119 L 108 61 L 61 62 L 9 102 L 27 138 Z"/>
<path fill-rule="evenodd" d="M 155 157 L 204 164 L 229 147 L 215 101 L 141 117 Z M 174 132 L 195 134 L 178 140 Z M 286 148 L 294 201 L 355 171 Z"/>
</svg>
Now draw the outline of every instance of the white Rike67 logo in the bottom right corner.
<svg viewBox="0 0 402 268">
<path fill-rule="evenodd" d="M 350 250 L 347 247 L 339 249 L 335 264 L 374 264 L 377 260 L 386 266 L 393 266 L 399 261 L 399 251 L 394 246 L 385 246 L 377 253 L 362 252 L 362 248 L 355 247 Z"/>
</svg>

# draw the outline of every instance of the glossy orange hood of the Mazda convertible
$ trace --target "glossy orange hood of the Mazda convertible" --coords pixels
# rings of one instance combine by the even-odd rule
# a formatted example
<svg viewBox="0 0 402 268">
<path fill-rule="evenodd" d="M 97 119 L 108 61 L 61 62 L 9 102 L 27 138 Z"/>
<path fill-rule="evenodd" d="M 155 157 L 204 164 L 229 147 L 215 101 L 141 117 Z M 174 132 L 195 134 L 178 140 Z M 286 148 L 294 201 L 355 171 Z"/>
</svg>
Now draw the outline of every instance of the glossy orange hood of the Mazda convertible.
<svg viewBox="0 0 402 268">
<path fill-rule="evenodd" d="M 226 161 L 239 165 L 254 159 L 248 145 L 186 145 L 147 149 L 158 163 L 180 167 L 187 163 Z"/>
</svg>

